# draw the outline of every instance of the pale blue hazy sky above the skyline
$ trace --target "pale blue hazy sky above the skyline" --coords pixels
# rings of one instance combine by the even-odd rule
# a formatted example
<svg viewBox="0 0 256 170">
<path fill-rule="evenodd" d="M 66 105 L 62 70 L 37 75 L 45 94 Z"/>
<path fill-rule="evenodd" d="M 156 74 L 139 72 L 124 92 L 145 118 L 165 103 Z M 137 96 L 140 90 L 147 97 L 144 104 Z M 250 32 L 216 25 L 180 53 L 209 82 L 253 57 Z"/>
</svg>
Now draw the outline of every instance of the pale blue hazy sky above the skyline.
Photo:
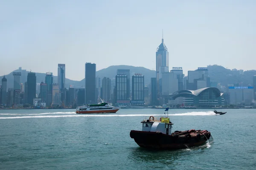
<svg viewBox="0 0 256 170">
<path fill-rule="evenodd" d="M 256 0 L 0 0 L 0 75 L 18 67 L 84 78 L 84 63 L 155 70 L 161 43 L 169 67 L 256 69 Z"/>
</svg>

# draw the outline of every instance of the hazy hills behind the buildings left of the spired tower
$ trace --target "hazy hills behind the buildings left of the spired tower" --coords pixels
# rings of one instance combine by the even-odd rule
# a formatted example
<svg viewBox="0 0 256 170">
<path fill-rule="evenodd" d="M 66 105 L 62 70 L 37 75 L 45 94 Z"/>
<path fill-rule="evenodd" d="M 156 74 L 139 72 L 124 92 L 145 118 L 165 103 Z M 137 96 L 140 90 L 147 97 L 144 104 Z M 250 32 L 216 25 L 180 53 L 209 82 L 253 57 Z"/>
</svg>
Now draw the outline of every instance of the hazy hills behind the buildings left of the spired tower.
<svg viewBox="0 0 256 170">
<path fill-rule="evenodd" d="M 145 81 L 145 85 L 149 85 L 150 84 L 150 79 L 151 77 L 155 77 L 156 76 L 156 71 L 154 70 L 149 70 L 147 68 L 144 67 L 134 67 L 134 66 L 130 66 L 130 65 L 112 65 L 108 68 L 104 68 L 102 70 L 96 71 L 96 76 L 100 77 L 101 79 L 104 77 L 109 77 L 110 79 L 114 79 L 116 77 L 116 71 L 117 69 L 130 69 L 130 75 L 134 75 L 134 73 L 140 73 L 142 75 L 144 75 L 144 81 Z M 13 72 L 20 72 L 19 70 L 15 70 Z M 20 81 L 21 82 L 26 82 L 26 77 L 29 71 L 25 70 L 21 70 L 22 75 L 20 77 Z M 26 75 L 24 75 L 26 73 Z M 36 75 L 36 82 L 40 83 L 40 82 L 45 82 L 45 73 L 35 73 Z M 7 79 L 7 88 L 13 88 L 13 84 L 14 84 L 14 77 L 12 75 L 12 72 L 10 74 L 5 75 L 6 79 Z M 0 76 L 0 79 L 2 79 L 3 76 Z M 66 88 L 68 88 L 70 85 L 74 85 L 75 88 L 80 88 L 80 87 L 84 87 L 84 79 L 82 79 L 81 81 L 74 81 L 71 79 L 65 79 L 65 85 Z M 58 77 L 57 76 L 53 76 L 53 82 L 54 83 L 58 83 Z M 1 80 L 0 80 L 0 83 Z M 114 81 L 112 81 L 112 85 L 114 84 Z"/>
</svg>

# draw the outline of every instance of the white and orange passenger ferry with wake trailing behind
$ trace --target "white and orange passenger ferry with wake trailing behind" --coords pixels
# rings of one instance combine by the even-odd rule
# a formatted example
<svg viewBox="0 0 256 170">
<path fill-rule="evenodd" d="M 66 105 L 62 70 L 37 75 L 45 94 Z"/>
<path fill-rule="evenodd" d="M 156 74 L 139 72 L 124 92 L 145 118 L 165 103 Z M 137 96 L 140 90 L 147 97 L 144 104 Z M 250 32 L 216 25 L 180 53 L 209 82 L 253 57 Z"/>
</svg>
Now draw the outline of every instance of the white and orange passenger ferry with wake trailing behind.
<svg viewBox="0 0 256 170">
<path fill-rule="evenodd" d="M 119 109 L 102 101 L 98 104 L 79 106 L 76 108 L 76 113 L 116 113 Z"/>
</svg>

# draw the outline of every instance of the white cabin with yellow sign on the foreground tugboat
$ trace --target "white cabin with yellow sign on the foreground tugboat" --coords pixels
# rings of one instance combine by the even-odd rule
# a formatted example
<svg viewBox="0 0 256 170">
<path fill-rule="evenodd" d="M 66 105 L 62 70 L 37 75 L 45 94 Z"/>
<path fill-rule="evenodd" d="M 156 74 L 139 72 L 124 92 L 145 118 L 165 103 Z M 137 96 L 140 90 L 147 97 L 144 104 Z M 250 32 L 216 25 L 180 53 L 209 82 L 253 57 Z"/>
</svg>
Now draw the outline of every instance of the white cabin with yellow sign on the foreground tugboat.
<svg viewBox="0 0 256 170">
<path fill-rule="evenodd" d="M 158 120 L 157 117 L 150 116 L 149 119 L 143 120 L 141 123 L 142 123 L 142 131 L 160 132 L 167 135 L 172 133 L 173 123 L 170 122 L 169 118 L 167 117 L 166 118 L 161 117 Z"/>
</svg>

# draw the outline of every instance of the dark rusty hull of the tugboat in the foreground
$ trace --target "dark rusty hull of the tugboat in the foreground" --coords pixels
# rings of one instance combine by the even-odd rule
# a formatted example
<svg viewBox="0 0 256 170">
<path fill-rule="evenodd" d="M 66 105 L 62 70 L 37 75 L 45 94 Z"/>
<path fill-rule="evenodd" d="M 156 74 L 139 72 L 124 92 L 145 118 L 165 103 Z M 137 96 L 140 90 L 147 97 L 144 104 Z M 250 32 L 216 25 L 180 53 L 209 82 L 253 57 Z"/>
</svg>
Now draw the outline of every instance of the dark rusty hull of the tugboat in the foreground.
<svg viewBox="0 0 256 170">
<path fill-rule="evenodd" d="M 176 150 L 200 146 L 207 142 L 207 139 L 210 138 L 211 133 L 207 131 L 207 133 L 199 134 L 196 136 L 179 136 L 166 135 L 157 132 L 131 130 L 130 136 L 140 147 Z"/>
</svg>

